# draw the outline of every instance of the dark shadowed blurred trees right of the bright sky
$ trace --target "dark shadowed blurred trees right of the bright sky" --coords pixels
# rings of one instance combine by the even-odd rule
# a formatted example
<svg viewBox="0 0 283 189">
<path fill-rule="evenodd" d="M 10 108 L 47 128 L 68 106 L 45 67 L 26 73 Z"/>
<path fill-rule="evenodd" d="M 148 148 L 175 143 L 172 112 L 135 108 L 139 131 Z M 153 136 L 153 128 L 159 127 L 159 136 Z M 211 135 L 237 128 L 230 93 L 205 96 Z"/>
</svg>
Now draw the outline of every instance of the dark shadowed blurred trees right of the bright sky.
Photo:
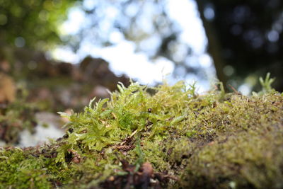
<svg viewBox="0 0 283 189">
<path fill-rule="evenodd" d="M 283 1 L 196 2 L 204 28 L 212 34 L 209 52 L 217 48 L 223 62 L 217 71 L 234 86 L 243 81 L 255 86 L 255 78 L 270 72 L 277 78 L 275 88 L 283 91 Z"/>
</svg>

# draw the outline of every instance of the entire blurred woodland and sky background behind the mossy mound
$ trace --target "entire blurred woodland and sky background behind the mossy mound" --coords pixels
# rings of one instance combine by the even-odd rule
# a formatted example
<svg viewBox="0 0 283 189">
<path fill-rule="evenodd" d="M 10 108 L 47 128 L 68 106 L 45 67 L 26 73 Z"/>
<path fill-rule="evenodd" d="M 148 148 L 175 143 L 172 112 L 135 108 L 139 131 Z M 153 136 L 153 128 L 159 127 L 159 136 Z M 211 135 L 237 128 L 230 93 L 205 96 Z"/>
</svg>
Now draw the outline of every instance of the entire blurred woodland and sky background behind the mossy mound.
<svg viewBox="0 0 283 189">
<path fill-rule="evenodd" d="M 283 91 L 282 30 L 280 0 L 0 0 L 0 138 L 129 78 L 248 95 L 270 72 Z"/>
</svg>

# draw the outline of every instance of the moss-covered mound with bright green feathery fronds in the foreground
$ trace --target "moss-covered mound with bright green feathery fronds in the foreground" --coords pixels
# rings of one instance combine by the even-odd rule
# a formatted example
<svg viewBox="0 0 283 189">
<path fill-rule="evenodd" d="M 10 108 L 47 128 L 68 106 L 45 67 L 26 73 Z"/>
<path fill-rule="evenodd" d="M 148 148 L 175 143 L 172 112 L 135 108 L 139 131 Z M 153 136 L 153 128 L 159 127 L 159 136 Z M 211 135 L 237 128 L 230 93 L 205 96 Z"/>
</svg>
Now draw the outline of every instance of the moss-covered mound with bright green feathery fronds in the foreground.
<svg viewBox="0 0 283 189">
<path fill-rule="evenodd" d="M 83 113 L 61 113 L 69 130 L 56 142 L 1 149 L 2 188 L 283 187 L 281 93 L 118 88 Z"/>
</svg>

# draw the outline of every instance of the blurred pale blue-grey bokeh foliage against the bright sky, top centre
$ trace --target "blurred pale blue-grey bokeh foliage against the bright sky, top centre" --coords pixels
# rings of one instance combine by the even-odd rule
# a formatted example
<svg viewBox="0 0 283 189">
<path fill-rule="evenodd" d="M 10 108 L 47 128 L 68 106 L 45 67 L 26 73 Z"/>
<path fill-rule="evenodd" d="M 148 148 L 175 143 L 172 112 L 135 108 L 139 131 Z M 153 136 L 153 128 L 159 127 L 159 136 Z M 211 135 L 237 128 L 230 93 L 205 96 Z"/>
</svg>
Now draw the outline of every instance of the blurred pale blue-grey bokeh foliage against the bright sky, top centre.
<svg viewBox="0 0 283 189">
<path fill-rule="evenodd" d="M 68 45 L 73 50 L 89 43 L 107 47 L 127 40 L 133 42 L 136 52 L 144 52 L 152 62 L 159 58 L 174 62 L 175 76 L 184 78 L 190 73 L 207 79 L 206 70 L 200 69 L 200 64 L 193 67 L 188 61 L 188 56 L 197 59 L 199 55 L 180 38 L 182 28 L 169 15 L 167 1 L 90 2 L 77 6 L 86 16 L 86 25 L 70 36 Z"/>
</svg>

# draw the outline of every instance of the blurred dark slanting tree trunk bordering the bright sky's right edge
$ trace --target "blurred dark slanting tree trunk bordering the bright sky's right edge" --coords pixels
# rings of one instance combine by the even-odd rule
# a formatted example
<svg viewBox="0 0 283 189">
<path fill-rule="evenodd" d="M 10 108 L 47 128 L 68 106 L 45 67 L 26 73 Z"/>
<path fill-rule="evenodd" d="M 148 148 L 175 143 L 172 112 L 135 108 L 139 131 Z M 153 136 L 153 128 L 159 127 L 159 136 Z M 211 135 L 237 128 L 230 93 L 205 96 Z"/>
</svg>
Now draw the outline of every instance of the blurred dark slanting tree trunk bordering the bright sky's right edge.
<svg viewBox="0 0 283 189">
<path fill-rule="evenodd" d="M 216 76 L 219 81 L 223 82 L 224 87 L 226 88 L 227 77 L 223 71 L 226 62 L 221 55 L 221 44 L 214 29 L 213 23 L 207 21 L 207 19 L 204 17 L 204 0 L 195 0 L 195 2 L 197 3 L 197 8 L 200 12 L 200 18 L 202 19 L 202 24 L 204 26 L 205 33 L 207 34 L 208 52 L 212 56 L 214 67 L 216 69 Z"/>
</svg>

